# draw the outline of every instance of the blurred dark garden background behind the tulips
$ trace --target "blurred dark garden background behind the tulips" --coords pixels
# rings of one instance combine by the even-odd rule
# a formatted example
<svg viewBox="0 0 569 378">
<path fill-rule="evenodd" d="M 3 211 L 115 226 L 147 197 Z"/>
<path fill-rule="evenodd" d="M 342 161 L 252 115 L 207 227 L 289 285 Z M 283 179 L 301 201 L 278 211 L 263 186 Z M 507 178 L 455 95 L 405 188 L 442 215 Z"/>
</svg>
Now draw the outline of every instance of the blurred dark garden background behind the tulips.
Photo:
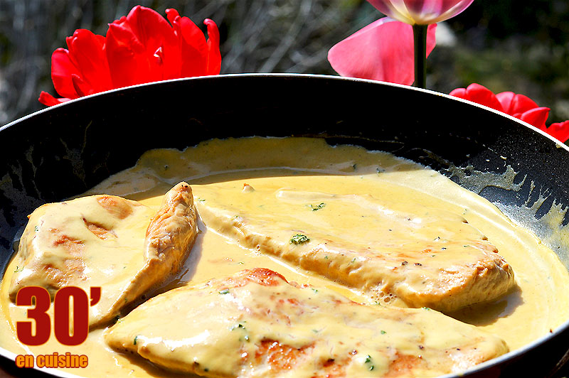
<svg viewBox="0 0 569 378">
<path fill-rule="evenodd" d="M 65 37 L 104 35 L 137 4 L 177 9 L 203 31 L 204 18 L 216 21 L 221 73 L 336 75 L 329 48 L 383 16 L 365 0 L 0 0 L 0 125 L 43 109 L 41 90 L 56 95 L 50 57 Z M 475 0 L 439 29 L 428 88 L 478 82 L 551 107 L 548 124 L 569 119 L 569 1 Z"/>
</svg>

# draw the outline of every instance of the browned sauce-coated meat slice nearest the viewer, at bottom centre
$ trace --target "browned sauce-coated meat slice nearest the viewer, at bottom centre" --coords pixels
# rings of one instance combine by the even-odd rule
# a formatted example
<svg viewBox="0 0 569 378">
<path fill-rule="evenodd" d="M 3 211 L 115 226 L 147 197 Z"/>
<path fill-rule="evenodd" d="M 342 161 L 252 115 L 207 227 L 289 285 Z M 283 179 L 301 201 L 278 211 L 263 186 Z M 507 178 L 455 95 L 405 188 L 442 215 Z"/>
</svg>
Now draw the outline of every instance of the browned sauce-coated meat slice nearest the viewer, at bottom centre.
<svg viewBox="0 0 569 378">
<path fill-rule="evenodd" d="M 437 311 L 361 305 L 260 268 L 151 298 L 105 341 L 206 377 L 436 377 L 508 351 Z"/>
</svg>

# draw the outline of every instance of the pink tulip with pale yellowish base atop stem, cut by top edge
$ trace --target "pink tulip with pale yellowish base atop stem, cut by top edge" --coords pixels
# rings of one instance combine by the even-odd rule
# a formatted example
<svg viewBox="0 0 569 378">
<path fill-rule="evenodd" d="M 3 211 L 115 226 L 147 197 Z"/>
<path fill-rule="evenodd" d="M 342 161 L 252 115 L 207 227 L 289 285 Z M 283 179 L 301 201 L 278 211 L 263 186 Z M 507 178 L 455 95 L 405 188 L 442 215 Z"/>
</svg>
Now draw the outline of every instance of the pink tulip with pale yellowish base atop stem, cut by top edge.
<svg viewBox="0 0 569 378">
<path fill-rule="evenodd" d="M 474 0 L 368 0 L 385 16 L 410 25 L 445 21 L 467 9 Z"/>
</svg>

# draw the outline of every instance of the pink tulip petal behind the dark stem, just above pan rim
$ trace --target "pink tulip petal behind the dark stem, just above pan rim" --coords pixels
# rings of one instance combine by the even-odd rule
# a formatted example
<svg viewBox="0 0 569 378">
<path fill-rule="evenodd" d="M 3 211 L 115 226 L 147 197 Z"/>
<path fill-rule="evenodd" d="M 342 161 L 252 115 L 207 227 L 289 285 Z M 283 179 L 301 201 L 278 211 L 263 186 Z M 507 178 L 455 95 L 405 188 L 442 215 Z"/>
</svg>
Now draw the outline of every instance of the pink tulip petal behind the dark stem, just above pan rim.
<svg viewBox="0 0 569 378">
<path fill-rule="evenodd" d="M 427 56 L 435 48 L 436 25 L 427 31 Z M 415 80 L 413 28 L 381 18 L 336 43 L 328 60 L 340 75 L 411 85 Z"/>
</svg>

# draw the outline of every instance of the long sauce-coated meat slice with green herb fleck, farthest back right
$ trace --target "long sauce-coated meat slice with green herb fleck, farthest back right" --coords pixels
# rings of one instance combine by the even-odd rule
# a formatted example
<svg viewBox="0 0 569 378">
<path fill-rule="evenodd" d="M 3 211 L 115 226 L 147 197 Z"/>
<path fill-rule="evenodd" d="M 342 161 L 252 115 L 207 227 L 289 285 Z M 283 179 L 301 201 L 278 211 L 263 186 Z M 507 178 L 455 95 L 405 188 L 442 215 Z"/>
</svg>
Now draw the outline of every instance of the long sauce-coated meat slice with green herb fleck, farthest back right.
<svg viewBox="0 0 569 378">
<path fill-rule="evenodd" d="M 243 192 L 235 183 L 199 190 L 201 218 L 216 232 L 382 303 L 447 312 L 514 286 L 496 247 L 446 210 L 371 195 Z"/>
</svg>

